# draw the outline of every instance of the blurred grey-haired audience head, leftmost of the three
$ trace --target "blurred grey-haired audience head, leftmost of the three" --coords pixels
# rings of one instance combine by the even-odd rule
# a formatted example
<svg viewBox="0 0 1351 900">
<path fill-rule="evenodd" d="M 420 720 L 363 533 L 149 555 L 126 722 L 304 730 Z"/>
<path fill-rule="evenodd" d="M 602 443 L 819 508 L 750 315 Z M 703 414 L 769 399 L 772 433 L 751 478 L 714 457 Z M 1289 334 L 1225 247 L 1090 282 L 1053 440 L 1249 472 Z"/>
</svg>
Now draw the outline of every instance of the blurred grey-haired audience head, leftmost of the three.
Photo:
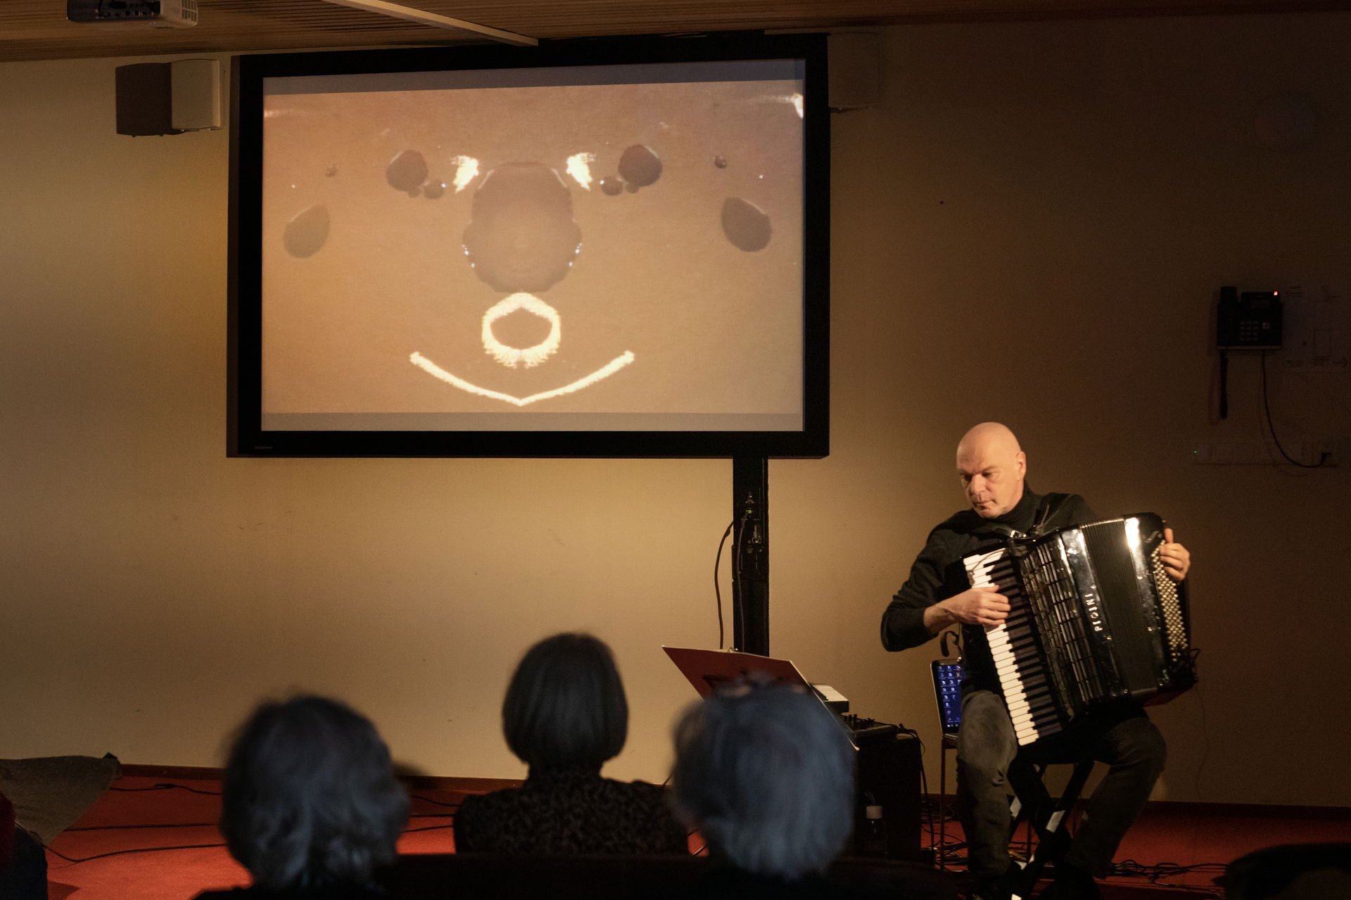
<svg viewBox="0 0 1351 900">
<path fill-rule="evenodd" d="M 235 738 L 220 830 L 270 891 L 357 885 L 393 862 L 408 820 L 376 727 L 347 705 L 300 696 L 259 705 Z"/>
</svg>

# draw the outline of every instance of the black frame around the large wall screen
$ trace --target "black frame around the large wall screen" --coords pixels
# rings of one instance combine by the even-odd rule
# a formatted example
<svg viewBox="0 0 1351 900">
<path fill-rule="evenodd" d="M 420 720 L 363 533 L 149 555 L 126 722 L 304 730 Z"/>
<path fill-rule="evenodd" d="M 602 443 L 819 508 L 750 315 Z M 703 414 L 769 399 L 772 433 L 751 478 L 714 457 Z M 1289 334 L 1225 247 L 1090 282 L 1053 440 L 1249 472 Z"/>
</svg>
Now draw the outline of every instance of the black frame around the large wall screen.
<svg viewBox="0 0 1351 900">
<path fill-rule="evenodd" d="M 232 61 L 227 454 L 231 457 L 820 458 L 830 451 L 830 111 L 825 35 L 607 38 L 539 47 L 239 55 Z M 278 76 L 531 66 L 804 62 L 802 428 L 800 431 L 262 430 L 262 104 Z"/>
</svg>

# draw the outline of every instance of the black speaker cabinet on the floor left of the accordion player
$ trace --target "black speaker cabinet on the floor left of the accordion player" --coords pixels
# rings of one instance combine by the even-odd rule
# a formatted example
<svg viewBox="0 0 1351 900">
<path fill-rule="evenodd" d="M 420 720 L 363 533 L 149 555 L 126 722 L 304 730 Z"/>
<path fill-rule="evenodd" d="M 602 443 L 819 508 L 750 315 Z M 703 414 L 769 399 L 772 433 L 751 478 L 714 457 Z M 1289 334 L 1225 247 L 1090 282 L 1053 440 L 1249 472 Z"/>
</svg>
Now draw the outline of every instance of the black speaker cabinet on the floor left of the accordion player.
<svg viewBox="0 0 1351 900">
<path fill-rule="evenodd" d="M 890 734 L 886 734 L 890 731 Z M 854 770 L 858 792 L 854 803 L 852 855 L 880 855 L 869 832 L 867 807 L 882 807 L 886 855 L 920 858 L 920 741 L 897 734 L 894 726 L 854 731 L 858 758 Z"/>
</svg>

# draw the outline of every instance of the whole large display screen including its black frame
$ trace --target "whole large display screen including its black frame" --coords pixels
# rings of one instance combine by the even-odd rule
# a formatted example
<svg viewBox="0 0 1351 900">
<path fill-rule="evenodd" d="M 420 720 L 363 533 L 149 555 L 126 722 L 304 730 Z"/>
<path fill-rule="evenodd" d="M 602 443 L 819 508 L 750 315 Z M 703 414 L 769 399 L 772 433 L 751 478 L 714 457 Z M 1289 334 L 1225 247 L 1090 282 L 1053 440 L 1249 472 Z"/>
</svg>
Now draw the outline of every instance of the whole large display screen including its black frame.
<svg viewBox="0 0 1351 900">
<path fill-rule="evenodd" d="M 232 453 L 825 453 L 817 39 L 235 66 Z"/>
</svg>

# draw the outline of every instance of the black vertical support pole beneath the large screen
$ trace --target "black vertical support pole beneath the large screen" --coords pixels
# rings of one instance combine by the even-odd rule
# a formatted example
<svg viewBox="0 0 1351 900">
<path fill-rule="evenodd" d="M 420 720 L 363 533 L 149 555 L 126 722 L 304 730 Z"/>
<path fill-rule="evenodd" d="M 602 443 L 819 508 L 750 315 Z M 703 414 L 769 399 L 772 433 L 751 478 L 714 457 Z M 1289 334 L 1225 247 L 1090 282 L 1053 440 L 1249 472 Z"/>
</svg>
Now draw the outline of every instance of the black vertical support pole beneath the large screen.
<svg viewBox="0 0 1351 900">
<path fill-rule="evenodd" d="M 732 457 L 732 649 L 769 655 L 769 459 Z"/>
</svg>

